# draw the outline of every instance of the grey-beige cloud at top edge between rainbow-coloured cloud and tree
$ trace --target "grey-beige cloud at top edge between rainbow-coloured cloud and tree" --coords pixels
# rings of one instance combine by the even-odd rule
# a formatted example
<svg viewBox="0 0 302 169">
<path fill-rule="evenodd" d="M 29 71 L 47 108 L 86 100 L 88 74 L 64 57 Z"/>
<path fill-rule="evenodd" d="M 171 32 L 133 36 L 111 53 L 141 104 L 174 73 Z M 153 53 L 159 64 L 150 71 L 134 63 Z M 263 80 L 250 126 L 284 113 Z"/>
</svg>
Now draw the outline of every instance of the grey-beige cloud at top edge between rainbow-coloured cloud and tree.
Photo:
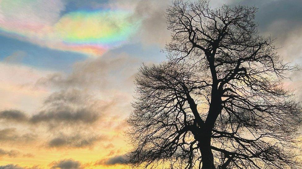
<svg viewBox="0 0 302 169">
<path fill-rule="evenodd" d="M 164 16 L 170 2 L 170 0 L 109 0 L 108 6 L 133 10 L 129 18 L 133 21 L 140 21 L 140 27 L 131 41 L 140 42 L 145 46 L 164 47 L 165 43 L 170 40 Z"/>
</svg>

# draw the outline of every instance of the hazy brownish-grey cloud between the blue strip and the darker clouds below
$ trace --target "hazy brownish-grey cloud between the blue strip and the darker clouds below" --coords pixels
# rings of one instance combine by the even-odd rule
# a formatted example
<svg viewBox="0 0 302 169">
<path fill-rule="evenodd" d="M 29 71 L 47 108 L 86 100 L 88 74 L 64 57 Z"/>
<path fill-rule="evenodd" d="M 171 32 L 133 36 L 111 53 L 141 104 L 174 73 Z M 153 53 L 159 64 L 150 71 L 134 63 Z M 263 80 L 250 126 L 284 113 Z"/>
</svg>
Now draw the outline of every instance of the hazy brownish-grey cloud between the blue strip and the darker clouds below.
<svg viewBox="0 0 302 169">
<path fill-rule="evenodd" d="M 54 73 L 40 78 L 36 86 L 81 88 L 106 91 L 126 89 L 133 81 L 127 81 L 137 72 L 140 62 L 125 53 L 106 53 L 100 58 L 77 62 L 70 74 Z"/>
</svg>

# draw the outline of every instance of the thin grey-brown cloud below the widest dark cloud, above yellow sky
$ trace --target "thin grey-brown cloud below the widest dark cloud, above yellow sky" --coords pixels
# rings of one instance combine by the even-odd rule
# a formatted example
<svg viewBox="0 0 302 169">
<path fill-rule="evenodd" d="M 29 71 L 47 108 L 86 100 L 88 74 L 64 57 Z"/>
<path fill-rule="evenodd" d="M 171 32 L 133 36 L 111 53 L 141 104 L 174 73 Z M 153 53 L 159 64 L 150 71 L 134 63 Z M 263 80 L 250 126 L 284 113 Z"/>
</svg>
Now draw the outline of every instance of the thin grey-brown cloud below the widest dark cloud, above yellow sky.
<svg viewBox="0 0 302 169">
<path fill-rule="evenodd" d="M 93 147 L 97 142 L 106 139 L 104 136 L 64 135 L 61 134 L 48 142 L 48 147 L 55 148 L 86 148 Z"/>
</svg>

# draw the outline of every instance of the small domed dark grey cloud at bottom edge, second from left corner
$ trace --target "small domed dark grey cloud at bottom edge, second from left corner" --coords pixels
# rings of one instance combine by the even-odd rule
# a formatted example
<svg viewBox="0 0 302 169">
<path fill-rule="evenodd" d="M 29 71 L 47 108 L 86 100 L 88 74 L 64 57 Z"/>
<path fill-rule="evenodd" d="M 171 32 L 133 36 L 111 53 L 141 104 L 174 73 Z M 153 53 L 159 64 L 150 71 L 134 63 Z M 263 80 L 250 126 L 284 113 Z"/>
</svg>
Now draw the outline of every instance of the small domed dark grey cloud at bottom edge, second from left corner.
<svg viewBox="0 0 302 169">
<path fill-rule="evenodd" d="M 60 169 L 80 169 L 81 163 L 74 159 L 63 159 L 60 161 L 54 161 L 50 163 L 51 168 L 60 168 Z"/>
</svg>

